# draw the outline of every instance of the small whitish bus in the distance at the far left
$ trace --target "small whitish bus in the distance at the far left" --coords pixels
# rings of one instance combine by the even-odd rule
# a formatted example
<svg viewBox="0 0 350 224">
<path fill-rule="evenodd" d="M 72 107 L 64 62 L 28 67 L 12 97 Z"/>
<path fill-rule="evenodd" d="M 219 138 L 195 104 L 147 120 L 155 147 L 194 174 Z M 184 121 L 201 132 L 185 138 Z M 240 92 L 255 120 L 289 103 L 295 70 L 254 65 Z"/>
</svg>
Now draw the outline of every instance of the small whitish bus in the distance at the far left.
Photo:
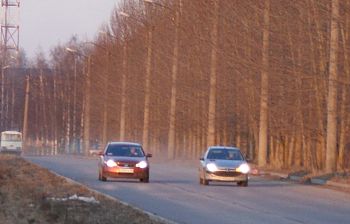
<svg viewBox="0 0 350 224">
<path fill-rule="evenodd" d="M 22 133 L 3 131 L 0 136 L 0 152 L 22 153 Z"/>
</svg>

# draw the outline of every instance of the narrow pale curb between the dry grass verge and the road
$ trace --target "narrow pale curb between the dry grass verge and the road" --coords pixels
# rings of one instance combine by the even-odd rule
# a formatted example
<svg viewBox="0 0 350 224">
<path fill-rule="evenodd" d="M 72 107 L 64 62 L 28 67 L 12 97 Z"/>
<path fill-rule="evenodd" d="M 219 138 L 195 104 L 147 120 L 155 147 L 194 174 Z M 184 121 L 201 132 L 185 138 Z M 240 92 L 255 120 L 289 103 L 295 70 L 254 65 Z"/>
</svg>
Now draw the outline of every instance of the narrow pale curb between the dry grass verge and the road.
<svg viewBox="0 0 350 224">
<path fill-rule="evenodd" d="M 135 209 L 136 211 L 139 211 L 139 212 L 141 212 L 141 213 L 144 213 L 144 214 L 148 215 L 148 216 L 150 217 L 151 220 L 164 222 L 164 223 L 166 223 L 166 224 L 179 224 L 179 223 L 177 223 L 177 222 L 175 222 L 175 221 L 172 221 L 172 220 L 170 220 L 170 219 L 166 219 L 166 218 L 161 217 L 161 216 L 159 216 L 159 215 L 156 215 L 156 214 L 154 214 L 154 213 L 151 213 L 151 212 L 147 212 L 147 211 L 145 211 L 145 210 L 142 210 L 141 208 L 138 208 L 138 207 L 136 207 L 136 206 L 134 206 L 134 205 L 131 205 L 131 204 L 127 203 L 127 202 L 121 201 L 120 199 L 118 199 L 118 198 L 116 198 L 116 197 L 113 197 L 113 196 L 111 196 L 111 195 L 108 195 L 108 194 L 102 193 L 102 192 L 100 192 L 100 191 L 97 191 L 97 190 L 95 190 L 95 189 L 89 188 L 88 186 L 86 186 L 86 185 L 84 185 L 84 184 L 82 184 L 82 183 L 80 183 L 80 182 L 78 182 L 78 181 L 75 181 L 75 180 L 73 180 L 73 179 L 71 179 L 71 178 L 62 176 L 61 174 L 58 174 L 58 173 L 56 173 L 56 172 L 54 172 L 54 171 L 52 171 L 52 170 L 49 170 L 49 169 L 47 169 L 47 168 L 45 168 L 45 167 L 42 167 L 42 166 L 40 166 L 40 165 L 38 165 L 38 164 L 36 164 L 36 163 L 33 163 L 32 161 L 29 161 L 29 160 L 27 160 L 27 159 L 26 159 L 26 161 L 29 162 L 29 163 L 31 163 L 31 164 L 34 164 L 35 166 L 39 166 L 39 167 L 41 167 L 41 168 L 44 168 L 44 169 L 48 170 L 50 173 L 52 173 L 52 174 L 54 174 L 54 175 L 56 175 L 56 176 L 58 176 L 58 177 L 61 177 L 61 178 L 65 179 L 68 183 L 77 184 L 77 185 L 79 185 L 80 187 L 83 187 L 83 188 L 85 188 L 85 189 L 87 189 L 87 190 L 89 190 L 89 191 L 91 191 L 91 192 L 93 192 L 93 193 L 95 193 L 95 194 L 102 195 L 102 196 L 104 196 L 104 197 L 106 197 L 106 198 L 108 198 L 108 199 L 110 199 L 110 200 L 112 200 L 112 201 L 114 201 L 114 202 L 118 202 L 118 203 L 120 203 L 120 204 L 122 204 L 122 205 L 125 205 L 125 206 L 128 206 L 128 207 L 130 207 L 130 208 L 133 208 L 133 209 Z"/>
</svg>

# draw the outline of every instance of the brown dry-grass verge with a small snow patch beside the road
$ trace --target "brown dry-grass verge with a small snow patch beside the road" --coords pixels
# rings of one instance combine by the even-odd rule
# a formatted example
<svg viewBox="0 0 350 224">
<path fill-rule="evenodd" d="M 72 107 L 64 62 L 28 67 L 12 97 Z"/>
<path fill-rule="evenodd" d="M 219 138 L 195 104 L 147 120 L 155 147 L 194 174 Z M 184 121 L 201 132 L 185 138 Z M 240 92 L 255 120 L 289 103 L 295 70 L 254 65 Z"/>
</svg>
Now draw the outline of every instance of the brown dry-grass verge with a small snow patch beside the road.
<svg viewBox="0 0 350 224">
<path fill-rule="evenodd" d="M 2 224 L 163 223 L 21 157 L 4 154 L 0 154 L 0 208 Z"/>
</svg>

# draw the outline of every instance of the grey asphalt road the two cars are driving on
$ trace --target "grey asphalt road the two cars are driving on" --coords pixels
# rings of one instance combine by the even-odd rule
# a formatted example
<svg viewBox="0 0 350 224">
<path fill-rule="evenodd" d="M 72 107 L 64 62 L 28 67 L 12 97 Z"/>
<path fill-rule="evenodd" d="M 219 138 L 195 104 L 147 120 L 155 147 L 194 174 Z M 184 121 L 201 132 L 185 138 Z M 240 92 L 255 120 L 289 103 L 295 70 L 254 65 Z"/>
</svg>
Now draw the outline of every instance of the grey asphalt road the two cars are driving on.
<svg viewBox="0 0 350 224">
<path fill-rule="evenodd" d="M 201 186 L 197 164 L 155 162 L 151 164 L 148 184 L 136 180 L 100 182 L 96 159 L 25 158 L 178 223 L 350 223 L 350 195 L 322 187 L 261 177 L 252 177 L 246 188 L 222 183 Z"/>
</svg>

